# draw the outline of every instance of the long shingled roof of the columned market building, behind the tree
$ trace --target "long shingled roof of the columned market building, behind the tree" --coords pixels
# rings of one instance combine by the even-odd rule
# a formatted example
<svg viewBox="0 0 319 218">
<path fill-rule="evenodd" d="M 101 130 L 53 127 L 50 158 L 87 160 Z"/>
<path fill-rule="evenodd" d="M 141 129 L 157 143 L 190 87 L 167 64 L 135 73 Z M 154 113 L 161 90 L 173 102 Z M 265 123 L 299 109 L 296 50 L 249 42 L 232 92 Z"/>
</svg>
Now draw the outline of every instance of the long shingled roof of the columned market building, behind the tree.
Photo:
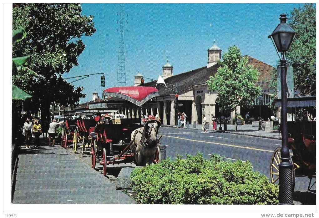
<svg viewBox="0 0 319 218">
<path fill-rule="evenodd" d="M 256 84 L 268 84 L 271 79 L 271 70 L 274 67 L 265 64 L 251 56 L 244 56 L 248 57 L 248 64 L 252 64 L 254 68 L 256 68 L 260 72 L 259 79 L 257 80 Z M 180 73 L 165 79 L 165 83 L 169 83 L 172 85 L 177 86 L 178 94 L 186 93 L 192 89 L 192 86 L 206 84 L 207 80 L 209 80 L 210 76 L 214 76 L 217 72 L 218 67 L 220 64 L 215 64 L 209 68 L 206 66 L 188 71 L 185 73 Z M 156 86 L 156 82 L 148 82 L 145 83 L 144 86 Z M 176 87 L 168 85 L 167 87 L 173 90 L 176 90 Z M 159 90 L 159 96 L 167 96 L 170 94 L 175 94 L 173 90 L 170 90 L 164 86 L 157 85 L 156 88 Z"/>
</svg>

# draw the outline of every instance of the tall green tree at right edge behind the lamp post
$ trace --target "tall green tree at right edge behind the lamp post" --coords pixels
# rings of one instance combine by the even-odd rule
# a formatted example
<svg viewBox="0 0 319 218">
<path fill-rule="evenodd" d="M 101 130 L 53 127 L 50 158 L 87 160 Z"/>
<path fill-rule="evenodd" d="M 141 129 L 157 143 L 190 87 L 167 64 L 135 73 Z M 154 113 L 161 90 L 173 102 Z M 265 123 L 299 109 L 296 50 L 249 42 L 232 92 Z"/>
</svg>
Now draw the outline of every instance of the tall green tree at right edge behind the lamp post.
<svg viewBox="0 0 319 218">
<path fill-rule="evenodd" d="M 288 17 L 289 25 L 296 31 L 288 54 L 293 66 L 294 84 L 302 95 L 316 94 L 316 8 L 304 4 L 294 8 Z"/>
</svg>

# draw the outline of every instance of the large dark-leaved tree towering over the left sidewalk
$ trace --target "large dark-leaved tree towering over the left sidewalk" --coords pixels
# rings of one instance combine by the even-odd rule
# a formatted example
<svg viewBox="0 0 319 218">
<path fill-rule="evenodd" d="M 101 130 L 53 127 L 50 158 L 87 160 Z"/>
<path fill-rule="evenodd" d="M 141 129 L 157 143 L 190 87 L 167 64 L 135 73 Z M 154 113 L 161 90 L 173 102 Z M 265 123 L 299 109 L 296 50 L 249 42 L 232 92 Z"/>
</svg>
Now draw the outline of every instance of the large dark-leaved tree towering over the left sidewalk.
<svg viewBox="0 0 319 218">
<path fill-rule="evenodd" d="M 49 118 L 52 103 L 74 105 L 85 94 L 62 75 L 78 65 L 85 49 L 82 36 L 95 33 L 93 16 L 81 15 L 81 4 L 16 3 L 12 9 L 13 29 L 24 28 L 23 40 L 13 46 L 13 57 L 30 55 L 28 68 L 12 76 L 12 82 L 33 96 L 41 106 L 42 118 Z"/>
</svg>

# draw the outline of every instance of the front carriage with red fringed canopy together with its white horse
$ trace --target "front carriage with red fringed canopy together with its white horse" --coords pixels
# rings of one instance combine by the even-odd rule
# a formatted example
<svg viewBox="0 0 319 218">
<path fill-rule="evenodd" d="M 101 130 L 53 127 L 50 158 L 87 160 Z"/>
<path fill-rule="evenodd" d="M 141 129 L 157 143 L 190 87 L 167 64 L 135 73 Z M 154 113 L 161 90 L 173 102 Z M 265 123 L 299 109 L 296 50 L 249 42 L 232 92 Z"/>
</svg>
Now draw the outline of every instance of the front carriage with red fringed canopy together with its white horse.
<svg viewBox="0 0 319 218">
<path fill-rule="evenodd" d="M 141 107 L 159 93 L 153 87 L 128 86 L 106 89 L 104 95 L 128 100 Z M 89 136 L 92 167 L 98 168 L 96 163 L 99 163 L 106 176 L 108 169 L 121 169 L 132 164 L 145 166 L 147 163 L 159 162 L 159 126 L 159 121 L 152 115 L 144 119 L 124 118 L 117 124 L 97 124 Z"/>
</svg>

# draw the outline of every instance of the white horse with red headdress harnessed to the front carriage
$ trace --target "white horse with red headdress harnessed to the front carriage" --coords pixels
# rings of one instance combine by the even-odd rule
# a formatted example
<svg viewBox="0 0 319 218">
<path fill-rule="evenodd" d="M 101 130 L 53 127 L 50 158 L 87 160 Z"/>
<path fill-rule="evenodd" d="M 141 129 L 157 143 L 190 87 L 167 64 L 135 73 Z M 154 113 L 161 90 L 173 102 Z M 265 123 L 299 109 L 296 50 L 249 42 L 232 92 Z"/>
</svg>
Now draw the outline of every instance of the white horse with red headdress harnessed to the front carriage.
<svg viewBox="0 0 319 218">
<path fill-rule="evenodd" d="M 146 166 L 146 163 L 151 164 L 154 161 L 159 127 L 159 121 L 148 120 L 144 127 L 132 132 L 131 149 L 134 153 L 134 163 L 137 166 Z"/>
</svg>

